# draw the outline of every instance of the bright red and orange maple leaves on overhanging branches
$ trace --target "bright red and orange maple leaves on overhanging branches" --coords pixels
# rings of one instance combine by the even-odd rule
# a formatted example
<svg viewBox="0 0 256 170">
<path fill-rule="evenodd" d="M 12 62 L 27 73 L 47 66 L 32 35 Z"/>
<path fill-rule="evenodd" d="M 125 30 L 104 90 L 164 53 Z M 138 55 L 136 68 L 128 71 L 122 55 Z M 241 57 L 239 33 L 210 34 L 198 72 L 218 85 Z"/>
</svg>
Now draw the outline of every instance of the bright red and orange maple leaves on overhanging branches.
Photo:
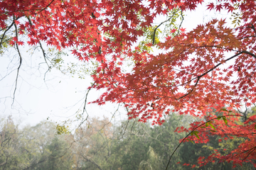
<svg viewBox="0 0 256 170">
<path fill-rule="evenodd" d="M 0 26 L 4 35 L 14 28 L 11 45 L 47 45 L 68 48 L 85 62 L 98 67 L 92 87 L 106 89 L 94 103 L 124 103 L 129 118 L 161 125 L 171 111 L 204 118 L 191 128 L 187 140 L 208 142 L 210 135 L 223 140 L 247 140 L 228 154 L 219 151 L 199 164 L 233 161 L 251 162 L 255 167 L 256 115 L 237 112 L 256 102 L 256 2 L 220 0 L 206 4 L 209 11 L 239 13 L 233 18 L 213 19 L 191 31 L 175 23 L 165 37 L 153 27 L 158 15 L 169 16 L 196 10 L 203 0 L 6 0 L 0 2 Z M 173 16 L 174 17 L 174 16 Z M 185 17 L 185 16 L 184 16 Z M 176 16 L 177 18 L 177 16 Z M 167 21 L 166 21 L 167 22 Z M 235 28 L 234 28 L 235 25 Z M 151 41 L 139 43 L 151 28 Z M 158 48 L 158 53 L 151 52 Z M 124 72 L 127 60 L 132 71 Z M 219 113 L 219 115 L 215 115 Z M 245 118 L 246 117 L 246 118 Z M 244 118 L 241 121 L 241 118 Z M 200 127 L 198 127 L 200 126 Z M 204 127 L 204 128 L 202 128 Z"/>
</svg>

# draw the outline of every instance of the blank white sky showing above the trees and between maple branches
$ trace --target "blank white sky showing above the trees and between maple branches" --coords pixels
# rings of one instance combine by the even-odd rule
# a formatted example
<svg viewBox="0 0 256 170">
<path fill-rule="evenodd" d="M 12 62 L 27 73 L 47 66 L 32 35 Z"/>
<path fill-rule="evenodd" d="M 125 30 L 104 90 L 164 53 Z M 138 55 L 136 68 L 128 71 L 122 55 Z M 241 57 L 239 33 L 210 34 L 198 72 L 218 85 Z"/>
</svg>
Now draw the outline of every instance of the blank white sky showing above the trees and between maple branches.
<svg viewBox="0 0 256 170">
<path fill-rule="evenodd" d="M 197 8 L 196 12 L 186 12 L 184 14 L 183 28 L 191 30 L 196 28 L 199 23 L 206 23 L 217 14 L 203 11 Z M 220 17 L 226 17 L 220 15 Z M 165 18 L 157 18 L 156 24 L 164 21 Z M 15 94 L 14 104 L 12 97 L 16 79 L 16 68 L 18 67 L 18 55 L 14 50 L 6 52 L 0 56 L 0 113 L 1 117 L 12 115 L 16 120 L 21 120 L 22 125 L 36 125 L 41 120 L 48 117 L 53 121 L 67 120 L 73 118 L 72 115 L 82 109 L 87 87 L 92 79 L 87 76 L 85 79 L 78 79 L 65 75 L 56 69 L 52 69 L 46 74 L 46 64 L 43 63 L 41 51 L 31 55 L 26 52 L 28 47 L 21 48 L 23 64 L 21 65 L 18 77 L 18 85 Z M 73 57 L 69 55 L 69 57 Z M 6 77 L 5 77 L 6 76 Z M 2 79 L 5 77 L 4 79 Z M 89 101 L 99 97 L 101 91 L 90 91 Z M 106 106 L 87 105 L 90 117 L 103 115 L 111 118 L 112 113 L 117 109 L 117 104 L 108 103 Z M 126 113 L 122 109 L 116 117 L 126 118 Z M 70 117 L 71 116 L 71 117 Z"/>
</svg>

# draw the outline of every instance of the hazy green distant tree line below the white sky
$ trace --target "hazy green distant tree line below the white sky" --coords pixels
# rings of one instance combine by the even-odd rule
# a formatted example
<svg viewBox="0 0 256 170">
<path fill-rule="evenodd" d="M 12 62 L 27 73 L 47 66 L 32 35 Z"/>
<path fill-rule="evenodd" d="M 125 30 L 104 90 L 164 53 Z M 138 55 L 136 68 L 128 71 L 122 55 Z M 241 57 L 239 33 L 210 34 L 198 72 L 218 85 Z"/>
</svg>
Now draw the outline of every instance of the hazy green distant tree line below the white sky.
<svg viewBox="0 0 256 170">
<path fill-rule="evenodd" d="M 250 114 L 255 114 L 255 108 Z M 107 118 L 91 118 L 75 132 L 57 135 L 55 123 L 48 120 L 19 128 L 9 116 L 0 121 L 0 169 L 166 169 L 171 153 L 186 136 L 174 130 L 193 121 L 191 116 L 175 113 L 167 116 L 161 126 L 137 120 L 114 125 Z M 207 144 L 184 142 L 171 159 L 169 169 L 191 169 L 193 164 L 193 169 L 232 169 L 232 162 L 200 166 L 198 158 L 208 157 L 220 148 L 229 152 L 246 139 L 234 137 L 220 142 L 218 136 L 210 138 Z M 234 169 L 254 168 L 243 164 Z"/>
</svg>

